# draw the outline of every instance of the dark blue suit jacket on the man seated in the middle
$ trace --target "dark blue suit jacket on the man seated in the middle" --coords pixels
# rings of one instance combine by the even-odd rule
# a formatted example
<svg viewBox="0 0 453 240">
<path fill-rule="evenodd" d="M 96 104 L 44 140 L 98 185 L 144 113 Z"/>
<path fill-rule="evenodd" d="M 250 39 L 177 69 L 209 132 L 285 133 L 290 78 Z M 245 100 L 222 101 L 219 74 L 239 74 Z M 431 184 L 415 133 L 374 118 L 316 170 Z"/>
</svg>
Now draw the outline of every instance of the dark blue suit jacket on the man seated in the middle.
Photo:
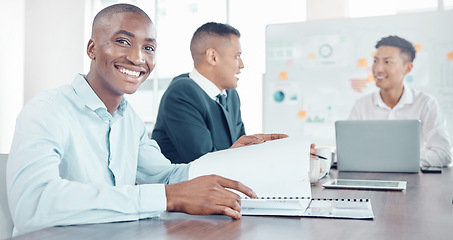
<svg viewBox="0 0 453 240">
<path fill-rule="evenodd" d="M 236 90 L 227 91 L 228 111 L 189 74 L 175 77 L 162 96 L 152 138 L 173 163 L 227 149 L 245 134 Z"/>
</svg>

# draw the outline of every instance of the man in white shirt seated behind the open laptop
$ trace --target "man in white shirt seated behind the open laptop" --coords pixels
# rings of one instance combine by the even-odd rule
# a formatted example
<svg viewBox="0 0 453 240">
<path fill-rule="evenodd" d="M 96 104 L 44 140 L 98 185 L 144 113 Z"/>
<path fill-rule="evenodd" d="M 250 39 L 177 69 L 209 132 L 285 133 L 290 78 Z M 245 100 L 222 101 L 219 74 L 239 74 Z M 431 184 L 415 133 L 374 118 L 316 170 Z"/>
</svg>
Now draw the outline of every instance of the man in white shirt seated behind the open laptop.
<svg viewBox="0 0 453 240">
<path fill-rule="evenodd" d="M 414 46 L 397 36 L 382 38 L 376 45 L 373 75 L 379 91 L 358 99 L 351 120 L 418 119 L 421 121 L 421 166 L 448 166 L 450 140 L 437 101 L 404 84 L 413 67 Z"/>
</svg>

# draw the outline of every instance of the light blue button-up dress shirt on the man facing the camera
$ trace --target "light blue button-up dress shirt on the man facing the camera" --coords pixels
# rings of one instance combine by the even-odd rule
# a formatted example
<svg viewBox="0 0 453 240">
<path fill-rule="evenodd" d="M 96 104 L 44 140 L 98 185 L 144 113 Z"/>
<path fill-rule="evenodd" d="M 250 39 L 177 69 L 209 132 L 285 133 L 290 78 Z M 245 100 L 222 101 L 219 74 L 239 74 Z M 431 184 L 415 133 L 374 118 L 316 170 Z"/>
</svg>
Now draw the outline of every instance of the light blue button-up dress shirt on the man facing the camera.
<svg viewBox="0 0 453 240">
<path fill-rule="evenodd" d="M 167 207 L 164 184 L 187 180 L 189 166 L 161 154 L 127 101 L 110 115 L 77 75 L 17 118 L 7 164 L 14 235 L 158 216 Z"/>
</svg>

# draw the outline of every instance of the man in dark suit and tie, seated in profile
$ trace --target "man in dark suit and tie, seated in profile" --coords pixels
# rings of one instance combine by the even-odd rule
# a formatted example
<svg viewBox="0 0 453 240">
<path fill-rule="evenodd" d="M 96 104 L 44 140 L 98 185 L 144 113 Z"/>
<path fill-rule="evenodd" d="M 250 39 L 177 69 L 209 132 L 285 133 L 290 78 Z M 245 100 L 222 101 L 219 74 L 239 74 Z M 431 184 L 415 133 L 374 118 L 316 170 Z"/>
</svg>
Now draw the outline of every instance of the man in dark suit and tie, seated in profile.
<svg viewBox="0 0 453 240">
<path fill-rule="evenodd" d="M 217 150 L 287 137 L 244 136 L 236 76 L 244 68 L 240 33 L 230 25 L 206 23 L 194 33 L 194 69 L 173 79 L 159 106 L 152 138 L 173 163 L 189 163 Z"/>
</svg>

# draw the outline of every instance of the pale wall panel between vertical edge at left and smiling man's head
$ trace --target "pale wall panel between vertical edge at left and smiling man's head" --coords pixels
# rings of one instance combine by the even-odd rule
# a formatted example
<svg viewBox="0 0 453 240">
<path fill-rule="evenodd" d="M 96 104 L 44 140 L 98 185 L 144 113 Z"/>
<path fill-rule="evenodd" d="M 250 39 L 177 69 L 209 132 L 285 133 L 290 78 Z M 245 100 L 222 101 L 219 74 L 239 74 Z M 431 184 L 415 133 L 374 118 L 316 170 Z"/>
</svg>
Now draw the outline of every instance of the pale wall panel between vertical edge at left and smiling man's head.
<svg viewBox="0 0 453 240">
<path fill-rule="evenodd" d="M 24 103 L 38 92 L 71 83 L 83 71 L 85 4 L 26 0 Z"/>
</svg>

